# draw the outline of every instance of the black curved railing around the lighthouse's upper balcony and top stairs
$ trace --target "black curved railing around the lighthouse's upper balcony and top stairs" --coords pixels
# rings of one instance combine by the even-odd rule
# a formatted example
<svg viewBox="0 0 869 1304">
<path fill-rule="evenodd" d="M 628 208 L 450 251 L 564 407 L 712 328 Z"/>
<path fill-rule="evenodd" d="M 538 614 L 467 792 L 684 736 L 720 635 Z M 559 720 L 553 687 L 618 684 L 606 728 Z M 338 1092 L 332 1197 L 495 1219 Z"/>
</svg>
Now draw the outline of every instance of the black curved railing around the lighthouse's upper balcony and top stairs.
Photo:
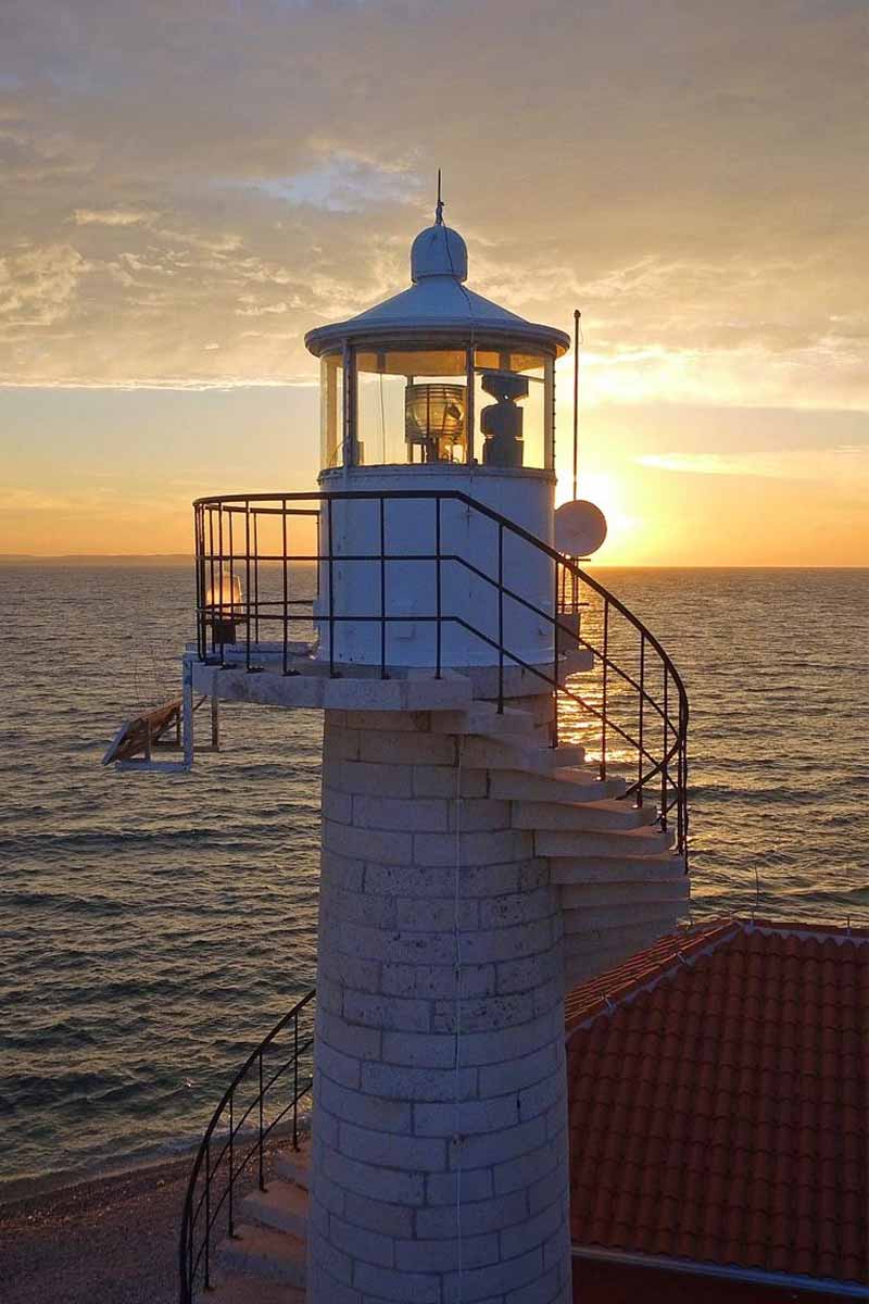
<svg viewBox="0 0 869 1304">
<path fill-rule="evenodd" d="M 360 554 L 336 548 L 335 507 L 348 499 L 379 505 L 379 539 L 371 550 Z M 431 502 L 435 546 L 409 556 L 387 549 L 387 511 L 396 502 Z M 491 548 L 492 571 L 478 558 L 463 556 L 443 544 L 444 503 L 460 503 L 469 514 L 486 518 L 496 531 Z M 492 651 L 498 666 L 498 704 L 503 709 L 506 669 L 521 666 L 537 675 L 554 698 L 552 743 L 581 742 L 595 762 L 602 778 L 624 775 L 624 798 L 637 806 L 655 801 L 662 828 L 674 828 L 675 850 L 688 863 L 688 696 L 671 657 L 658 639 L 599 580 L 548 544 L 516 526 L 491 507 L 451 490 L 335 490 L 307 494 L 229 494 L 199 498 L 194 503 L 197 542 L 197 634 L 201 660 L 224 660 L 228 644 L 233 657 L 244 655 L 248 670 L 257 670 L 263 647 L 261 635 L 276 631 L 276 651 L 284 674 L 296 673 L 293 656 L 300 634 L 313 626 L 328 634 L 328 668 L 341 672 L 335 660 L 335 631 L 345 622 L 375 622 L 380 630 L 382 677 L 388 677 L 387 629 L 403 621 L 431 622 L 435 627 L 433 670 L 442 672 L 442 630 L 459 626 Z M 317 526 L 317 541 L 297 540 L 300 523 Z M 422 527 L 421 527 L 422 536 Z M 529 559 L 546 558 L 552 596 L 548 609 L 516 584 L 507 582 L 504 550 L 507 540 L 521 540 L 533 552 Z M 513 558 L 515 559 L 515 558 Z M 412 615 L 390 608 L 386 585 L 388 562 L 434 563 L 433 610 Z M 309 592 L 302 592 L 302 563 L 309 569 Z M 340 562 L 379 562 L 379 602 L 369 614 L 341 614 L 335 610 L 332 584 L 327 584 L 327 609 L 314 614 L 321 572 L 331 580 L 332 566 Z M 444 605 L 442 576 L 448 566 L 460 566 L 468 575 L 496 595 L 498 618 L 489 631 L 468 618 L 468 613 Z M 244 569 L 242 593 L 227 593 L 221 576 Z M 302 567 L 304 569 L 304 567 Z M 509 567 L 508 567 L 509 569 Z M 552 660 L 532 664 L 511 648 L 504 638 L 504 605 L 532 613 L 542 627 L 551 630 Z M 509 621 L 507 622 L 509 623 Z M 227 631 L 232 631 L 232 638 Z M 215 631 L 221 631 L 215 636 Z M 590 669 L 582 678 L 565 679 L 564 656 L 584 648 Z M 568 682 L 569 681 L 569 682 Z M 581 686 L 581 691 L 580 691 Z"/>
</svg>

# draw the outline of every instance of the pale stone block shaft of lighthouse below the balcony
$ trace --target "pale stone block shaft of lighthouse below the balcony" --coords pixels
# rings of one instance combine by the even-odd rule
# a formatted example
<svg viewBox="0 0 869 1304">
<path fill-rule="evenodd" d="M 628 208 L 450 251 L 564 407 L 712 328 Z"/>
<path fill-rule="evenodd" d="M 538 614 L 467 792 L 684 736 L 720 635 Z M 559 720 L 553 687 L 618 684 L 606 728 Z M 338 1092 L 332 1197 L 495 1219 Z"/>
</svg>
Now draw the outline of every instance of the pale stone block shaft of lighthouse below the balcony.
<svg viewBox="0 0 869 1304">
<path fill-rule="evenodd" d="M 429 717 L 327 712 L 323 748 L 309 1304 L 565 1304 L 547 862 Z"/>
</svg>

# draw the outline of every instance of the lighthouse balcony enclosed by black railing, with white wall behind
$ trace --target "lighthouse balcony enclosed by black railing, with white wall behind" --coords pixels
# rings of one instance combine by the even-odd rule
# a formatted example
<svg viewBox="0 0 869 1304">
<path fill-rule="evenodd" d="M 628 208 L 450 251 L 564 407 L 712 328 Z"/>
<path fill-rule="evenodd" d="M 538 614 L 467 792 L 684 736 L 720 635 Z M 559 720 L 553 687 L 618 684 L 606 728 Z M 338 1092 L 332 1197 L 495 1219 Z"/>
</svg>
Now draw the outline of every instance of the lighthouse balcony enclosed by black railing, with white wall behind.
<svg viewBox="0 0 869 1304">
<path fill-rule="evenodd" d="M 575 561 L 449 489 L 221 496 L 194 515 L 189 694 L 500 716 L 548 696 L 548 746 L 624 777 L 621 798 L 654 802 L 685 854 L 684 685 Z"/>
</svg>

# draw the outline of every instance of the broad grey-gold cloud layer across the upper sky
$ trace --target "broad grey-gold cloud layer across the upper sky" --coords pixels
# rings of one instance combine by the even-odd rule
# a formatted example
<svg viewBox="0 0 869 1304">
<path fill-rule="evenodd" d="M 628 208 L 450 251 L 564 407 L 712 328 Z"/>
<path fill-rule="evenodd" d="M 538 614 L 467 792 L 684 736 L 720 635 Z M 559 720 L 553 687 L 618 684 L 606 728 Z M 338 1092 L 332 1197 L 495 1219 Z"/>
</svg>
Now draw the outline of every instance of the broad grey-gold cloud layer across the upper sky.
<svg viewBox="0 0 869 1304">
<path fill-rule="evenodd" d="M 582 308 L 593 402 L 869 406 L 860 7 L 7 0 L 0 39 L 0 248 L 77 258 L 0 282 L 3 383 L 310 377 L 443 164 L 472 284 Z"/>
</svg>

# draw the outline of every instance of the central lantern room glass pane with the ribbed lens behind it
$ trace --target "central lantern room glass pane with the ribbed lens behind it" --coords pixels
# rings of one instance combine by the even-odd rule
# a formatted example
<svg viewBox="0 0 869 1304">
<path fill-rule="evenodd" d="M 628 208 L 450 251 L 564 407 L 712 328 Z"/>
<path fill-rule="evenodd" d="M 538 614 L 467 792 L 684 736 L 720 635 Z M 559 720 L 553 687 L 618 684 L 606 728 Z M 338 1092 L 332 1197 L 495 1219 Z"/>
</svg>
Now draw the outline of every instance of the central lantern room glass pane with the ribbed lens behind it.
<svg viewBox="0 0 869 1304">
<path fill-rule="evenodd" d="M 362 466 L 465 462 L 464 348 L 356 352 L 357 460 Z"/>
</svg>

